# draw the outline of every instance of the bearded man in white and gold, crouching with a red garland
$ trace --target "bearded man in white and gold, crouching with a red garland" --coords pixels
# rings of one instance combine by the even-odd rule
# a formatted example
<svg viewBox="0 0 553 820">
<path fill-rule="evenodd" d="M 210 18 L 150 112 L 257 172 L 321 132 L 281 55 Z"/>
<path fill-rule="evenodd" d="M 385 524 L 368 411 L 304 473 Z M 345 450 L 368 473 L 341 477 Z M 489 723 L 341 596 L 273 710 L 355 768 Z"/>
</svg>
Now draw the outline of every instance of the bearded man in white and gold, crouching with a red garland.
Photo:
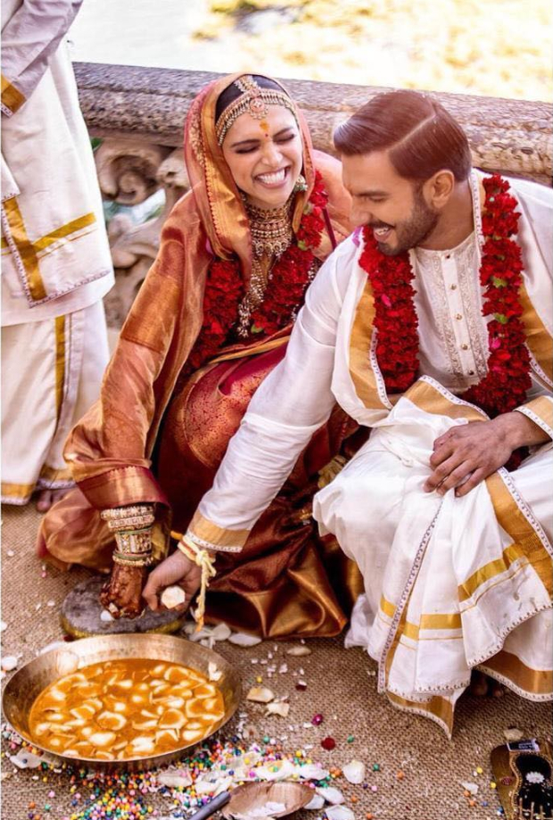
<svg viewBox="0 0 553 820">
<path fill-rule="evenodd" d="M 241 549 L 339 402 L 371 428 L 314 500 L 364 576 L 346 645 L 450 733 L 474 669 L 531 700 L 553 691 L 553 193 L 472 170 L 427 95 L 377 95 L 334 138 L 359 229 L 144 598 Z"/>
</svg>

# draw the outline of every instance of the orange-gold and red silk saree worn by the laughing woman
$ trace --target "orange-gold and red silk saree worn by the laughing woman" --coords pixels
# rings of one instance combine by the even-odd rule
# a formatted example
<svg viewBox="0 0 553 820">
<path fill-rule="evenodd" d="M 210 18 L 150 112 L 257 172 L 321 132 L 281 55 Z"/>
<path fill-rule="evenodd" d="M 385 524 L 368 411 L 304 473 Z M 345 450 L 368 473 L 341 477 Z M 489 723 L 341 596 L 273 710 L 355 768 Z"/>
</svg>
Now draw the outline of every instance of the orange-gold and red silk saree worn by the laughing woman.
<svg viewBox="0 0 553 820">
<path fill-rule="evenodd" d="M 215 136 L 219 95 L 238 76 L 210 84 L 191 106 L 185 132 L 191 191 L 165 223 L 160 252 L 121 330 L 100 399 L 66 444 L 78 487 L 45 516 L 39 548 L 60 566 L 79 563 L 108 571 L 113 543 L 100 511 L 139 501 L 157 504 L 153 543 L 161 558 L 170 528 L 182 532 L 210 488 L 252 393 L 284 357 L 286 328 L 270 338 L 223 344 L 195 373 L 186 367 L 202 327 L 211 261 L 238 260 L 245 288 L 252 272 L 249 220 Z M 332 251 L 331 234 L 341 241 L 350 231 L 349 195 L 340 164 L 313 150 L 299 112 L 298 120 L 307 190 L 295 195 L 293 229 L 300 226 L 318 170 L 332 226 L 315 251 L 324 261 Z M 318 471 L 353 429 L 336 410 L 302 453 L 243 552 L 219 556 L 208 618 L 271 637 L 341 631 L 344 609 L 360 591 L 360 576 L 334 541 L 318 539 L 309 511 Z"/>
</svg>

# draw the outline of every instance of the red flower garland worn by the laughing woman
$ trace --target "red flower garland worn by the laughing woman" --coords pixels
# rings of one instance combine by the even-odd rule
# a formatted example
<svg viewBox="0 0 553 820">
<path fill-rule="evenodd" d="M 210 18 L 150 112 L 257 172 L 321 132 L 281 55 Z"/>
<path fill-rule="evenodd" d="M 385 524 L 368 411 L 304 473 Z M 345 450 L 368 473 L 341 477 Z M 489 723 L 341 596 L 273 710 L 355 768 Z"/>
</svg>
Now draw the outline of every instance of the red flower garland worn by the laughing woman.
<svg viewBox="0 0 553 820">
<path fill-rule="evenodd" d="M 303 302 L 310 284 L 313 250 L 325 228 L 323 210 L 328 202 L 323 178 L 317 171 L 315 185 L 301 218 L 295 243 L 276 261 L 269 277 L 263 302 L 252 312 L 252 334 L 271 335 L 285 327 Z M 187 369 L 202 367 L 215 356 L 238 319 L 238 305 L 244 287 L 240 263 L 216 259 L 208 270 L 203 296 L 203 322 L 200 335 L 188 357 Z"/>
</svg>

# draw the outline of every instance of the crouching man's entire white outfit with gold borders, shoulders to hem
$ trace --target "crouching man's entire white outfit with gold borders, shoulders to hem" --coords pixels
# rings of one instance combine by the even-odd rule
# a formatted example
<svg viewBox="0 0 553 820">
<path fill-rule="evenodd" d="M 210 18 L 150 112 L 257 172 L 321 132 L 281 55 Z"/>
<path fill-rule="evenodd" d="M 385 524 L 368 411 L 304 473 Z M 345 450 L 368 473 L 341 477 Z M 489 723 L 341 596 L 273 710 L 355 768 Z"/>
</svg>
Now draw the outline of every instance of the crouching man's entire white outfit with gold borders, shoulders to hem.
<svg viewBox="0 0 553 820">
<path fill-rule="evenodd" d="M 517 241 L 524 285 L 549 338 L 553 192 L 511 182 L 522 211 Z M 316 495 L 314 517 L 365 579 L 347 644 L 363 645 L 376 658 L 380 688 L 392 702 L 433 717 L 448 732 L 471 668 L 485 668 L 541 700 L 551 697 L 553 667 L 546 588 L 553 533 L 543 482 L 544 469 L 553 467 L 551 443 L 510 476 L 500 470 L 491 489 L 483 483 L 464 498 L 423 490 L 434 440 L 452 425 L 486 418 L 456 396 L 486 373 L 476 178 L 473 192 L 473 235 L 448 252 L 411 252 L 424 374 L 417 384 L 401 397 L 386 396 L 376 334 L 366 334 L 359 355 L 356 340 L 359 333 L 365 338 L 369 323 L 367 273 L 359 267 L 360 237 L 352 236 L 310 286 L 285 360 L 253 397 L 187 533 L 215 549 L 241 549 L 334 402 L 372 427 L 365 446 Z M 532 357 L 529 404 L 520 410 L 549 435 L 550 387 Z M 422 394 L 444 410 L 426 410 Z M 499 520 L 499 498 L 500 509 L 516 510 L 514 518 L 502 513 Z"/>
</svg>

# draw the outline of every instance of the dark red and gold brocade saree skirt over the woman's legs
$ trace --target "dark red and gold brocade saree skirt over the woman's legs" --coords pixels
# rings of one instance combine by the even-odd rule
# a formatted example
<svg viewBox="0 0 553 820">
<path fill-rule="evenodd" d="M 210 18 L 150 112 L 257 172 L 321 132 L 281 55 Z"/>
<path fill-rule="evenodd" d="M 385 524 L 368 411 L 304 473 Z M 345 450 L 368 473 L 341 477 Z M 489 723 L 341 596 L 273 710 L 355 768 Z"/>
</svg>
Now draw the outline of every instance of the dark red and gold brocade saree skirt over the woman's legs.
<svg viewBox="0 0 553 820">
<path fill-rule="evenodd" d="M 161 430 L 156 468 L 173 510 L 174 531 L 186 531 L 252 394 L 284 358 L 286 341 L 224 353 L 177 390 Z M 301 453 L 243 551 L 219 553 L 207 620 L 266 638 L 342 631 L 362 579 L 334 537 L 318 536 L 310 512 L 319 471 L 343 449 L 355 427 L 336 407 Z"/>
</svg>

